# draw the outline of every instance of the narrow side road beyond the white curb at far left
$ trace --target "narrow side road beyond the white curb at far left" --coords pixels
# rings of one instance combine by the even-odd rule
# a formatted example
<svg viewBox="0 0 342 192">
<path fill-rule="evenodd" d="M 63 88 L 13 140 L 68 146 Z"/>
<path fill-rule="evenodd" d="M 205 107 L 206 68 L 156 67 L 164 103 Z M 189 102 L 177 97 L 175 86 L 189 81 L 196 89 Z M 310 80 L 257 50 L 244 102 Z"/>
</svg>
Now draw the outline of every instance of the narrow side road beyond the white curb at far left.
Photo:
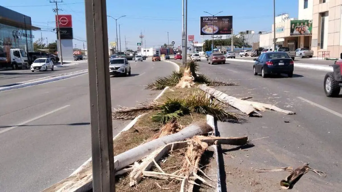
<svg viewBox="0 0 342 192">
<path fill-rule="evenodd" d="M 75 65 L 74 65 L 75 64 Z M 64 64 L 64 67 L 56 67 L 54 71 L 36 71 L 31 72 L 29 69 L 23 70 L 0 70 L 0 87 L 11 86 L 25 81 L 31 81 L 39 78 L 54 76 L 58 74 L 70 73 L 88 69 L 87 62 L 75 61 L 75 63 Z"/>
</svg>

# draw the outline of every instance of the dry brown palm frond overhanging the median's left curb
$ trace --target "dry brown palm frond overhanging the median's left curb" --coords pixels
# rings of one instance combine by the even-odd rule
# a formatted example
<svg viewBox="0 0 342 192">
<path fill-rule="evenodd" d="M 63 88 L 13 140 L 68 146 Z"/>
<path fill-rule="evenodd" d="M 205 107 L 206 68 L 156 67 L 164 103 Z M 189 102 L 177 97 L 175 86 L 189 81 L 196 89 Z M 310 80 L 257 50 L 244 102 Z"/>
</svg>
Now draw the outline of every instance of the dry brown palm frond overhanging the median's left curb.
<svg viewBox="0 0 342 192">
<path fill-rule="evenodd" d="M 133 120 L 147 111 L 159 109 L 159 106 L 160 103 L 154 101 L 136 107 L 120 107 L 112 112 L 111 117 L 112 119 Z"/>
</svg>

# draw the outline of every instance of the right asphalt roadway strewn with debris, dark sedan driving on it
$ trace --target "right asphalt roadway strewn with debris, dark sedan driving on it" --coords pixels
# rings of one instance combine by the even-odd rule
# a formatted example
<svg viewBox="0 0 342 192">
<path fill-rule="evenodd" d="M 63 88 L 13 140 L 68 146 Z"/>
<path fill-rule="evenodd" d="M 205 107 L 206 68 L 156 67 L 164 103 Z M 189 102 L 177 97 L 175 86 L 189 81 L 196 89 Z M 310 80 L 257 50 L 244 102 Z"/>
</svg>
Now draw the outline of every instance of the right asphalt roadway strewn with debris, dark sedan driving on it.
<svg viewBox="0 0 342 192">
<path fill-rule="evenodd" d="M 264 79 L 260 75 L 253 75 L 253 63 L 226 63 L 229 64 L 208 65 L 204 60 L 200 62 L 200 70 L 214 79 L 239 82 L 240 86 L 219 87 L 228 95 L 238 98 L 252 96 L 253 101 L 275 104 L 297 113 L 285 115 L 266 111 L 261 112 L 262 118 L 246 117 L 246 123 L 219 122 L 221 136 L 247 135 L 251 140 L 268 137 L 252 141 L 255 146 L 242 157 L 232 159 L 227 152 L 226 166 L 234 166 L 233 162 L 236 161 L 237 167 L 252 170 L 297 167 L 309 162 L 312 168 L 327 172 L 328 176 L 322 178 L 310 172 L 310 175 L 308 173 L 295 184 L 295 191 L 341 191 L 342 93 L 339 98 L 325 96 L 323 79 L 326 72 L 295 68 L 293 78 L 287 78 L 284 74 L 282 77 Z M 262 174 L 273 183 L 279 183 L 288 175 Z"/>
</svg>

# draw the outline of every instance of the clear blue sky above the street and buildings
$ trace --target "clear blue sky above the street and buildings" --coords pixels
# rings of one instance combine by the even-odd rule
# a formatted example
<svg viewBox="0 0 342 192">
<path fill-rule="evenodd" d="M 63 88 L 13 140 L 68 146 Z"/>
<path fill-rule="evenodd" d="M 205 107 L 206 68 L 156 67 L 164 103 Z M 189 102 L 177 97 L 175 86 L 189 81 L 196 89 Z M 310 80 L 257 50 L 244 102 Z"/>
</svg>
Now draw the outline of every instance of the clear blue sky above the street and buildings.
<svg viewBox="0 0 342 192">
<path fill-rule="evenodd" d="M 107 15 L 120 18 L 118 24 L 121 29 L 121 46 L 124 49 L 124 36 L 127 47 L 136 49 L 136 42 L 140 42 L 139 35 L 142 31 L 145 35 L 146 46 L 153 47 L 175 41 L 175 45 L 181 44 L 182 35 L 182 1 L 156 1 L 156 0 L 107 0 Z M 28 15 L 32 19 L 32 25 L 42 28 L 35 31 L 35 40 L 42 32 L 44 38 L 50 42 L 56 40 L 52 32 L 54 28 L 54 3 L 49 0 L 16 0 L 1 3 L 9 9 Z M 73 43 L 77 48 L 83 49 L 83 41 L 86 40 L 84 0 L 64 0 L 59 3 L 63 11 L 60 14 L 73 16 Z M 195 35 L 195 41 L 203 41 L 199 32 L 199 17 L 207 16 L 203 11 L 215 14 L 223 11 L 219 16 L 233 15 L 234 32 L 244 30 L 267 31 L 271 30 L 273 23 L 273 0 L 188 0 L 188 35 Z M 276 0 L 276 14 L 289 13 L 290 17 L 298 17 L 298 0 Z M 50 23 L 49 23 L 50 22 Z M 109 41 L 116 40 L 115 20 L 108 18 Z M 86 43 L 85 43 L 86 45 Z M 75 45 L 74 45 L 75 46 Z M 86 45 L 87 46 L 87 45 Z"/>
</svg>

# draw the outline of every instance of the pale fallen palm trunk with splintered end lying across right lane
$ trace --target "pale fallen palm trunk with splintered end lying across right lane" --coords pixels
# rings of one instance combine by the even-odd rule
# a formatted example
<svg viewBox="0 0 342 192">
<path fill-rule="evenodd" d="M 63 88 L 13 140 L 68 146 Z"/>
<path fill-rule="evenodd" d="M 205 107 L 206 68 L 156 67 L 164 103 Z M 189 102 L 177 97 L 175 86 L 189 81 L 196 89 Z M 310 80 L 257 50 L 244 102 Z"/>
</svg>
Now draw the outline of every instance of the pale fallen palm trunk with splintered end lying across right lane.
<svg viewBox="0 0 342 192">
<path fill-rule="evenodd" d="M 247 115 L 251 115 L 252 113 L 257 113 L 257 111 L 266 111 L 267 109 L 269 110 L 274 110 L 277 112 L 281 112 L 284 114 L 295 114 L 293 111 L 288 111 L 284 109 L 280 109 L 274 105 L 271 104 L 264 104 L 261 102 L 256 102 L 256 101 L 248 101 L 248 100 L 242 100 L 238 99 L 236 97 L 227 95 L 225 93 L 222 93 L 220 91 L 217 91 L 213 88 L 208 87 L 207 85 L 199 85 L 200 90 L 208 93 L 212 97 L 216 98 L 219 101 L 224 102 L 225 104 L 228 104 L 238 110 L 240 110 L 243 113 L 246 113 Z M 258 113 L 260 115 L 260 113 Z"/>
</svg>

